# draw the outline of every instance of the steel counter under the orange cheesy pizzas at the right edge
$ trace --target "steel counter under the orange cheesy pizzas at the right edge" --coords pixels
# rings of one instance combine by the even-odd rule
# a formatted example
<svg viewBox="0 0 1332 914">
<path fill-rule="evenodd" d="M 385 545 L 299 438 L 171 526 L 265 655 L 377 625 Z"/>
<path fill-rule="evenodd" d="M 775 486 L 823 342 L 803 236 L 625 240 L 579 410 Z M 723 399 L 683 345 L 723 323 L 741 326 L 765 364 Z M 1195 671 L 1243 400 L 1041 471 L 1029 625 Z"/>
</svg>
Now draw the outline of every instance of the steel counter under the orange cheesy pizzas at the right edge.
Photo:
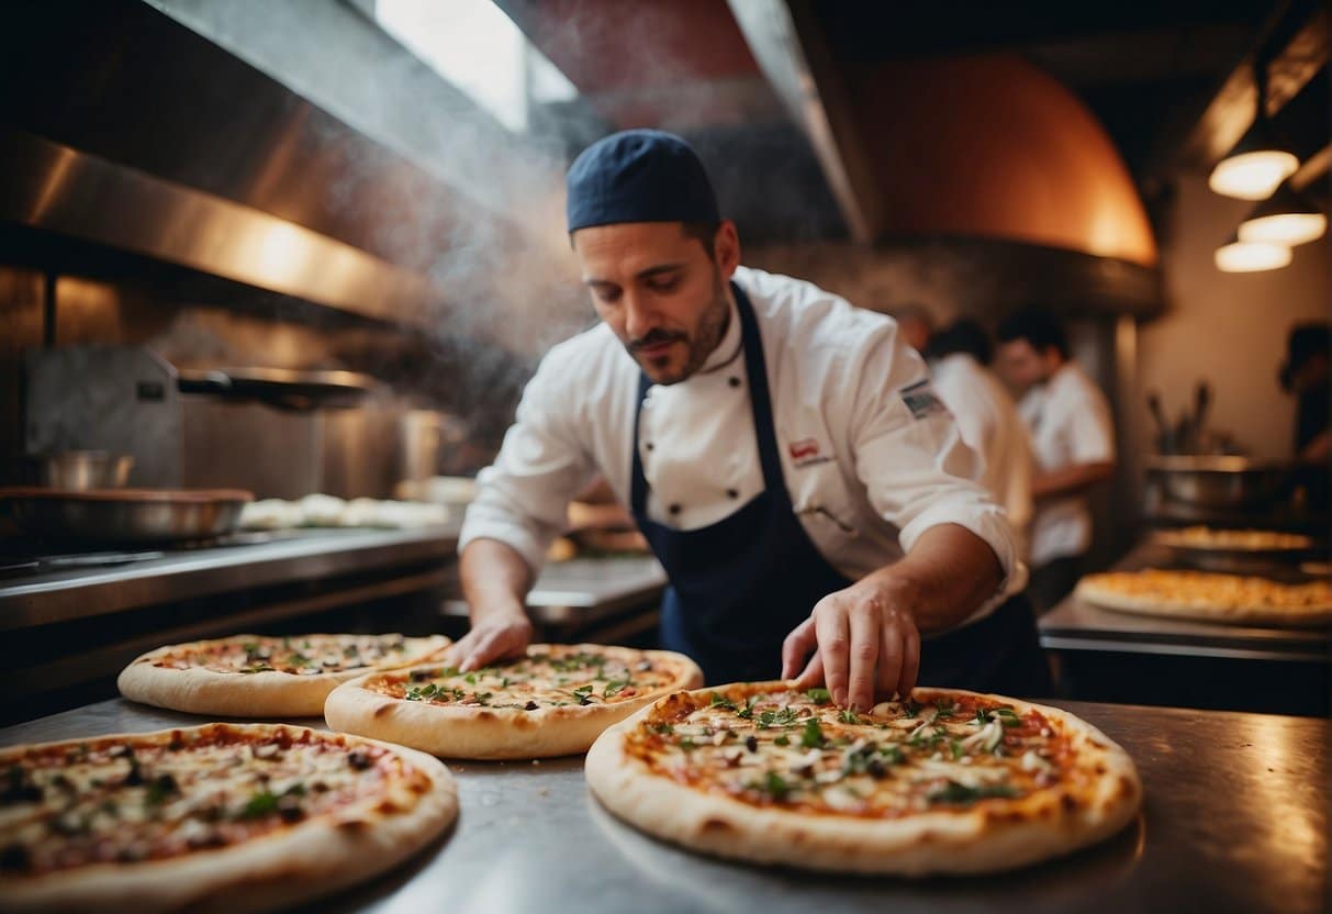
<svg viewBox="0 0 1332 914">
<path fill-rule="evenodd" d="M 1180 566 L 1168 549 L 1144 544 L 1116 562 L 1115 570 Z M 1272 569 L 1269 576 L 1289 577 L 1284 568 Z M 1295 662 L 1327 662 L 1329 658 L 1325 629 L 1237 626 L 1116 613 L 1092 606 L 1072 594 L 1043 616 L 1038 625 L 1040 644 L 1050 650 Z"/>
</svg>

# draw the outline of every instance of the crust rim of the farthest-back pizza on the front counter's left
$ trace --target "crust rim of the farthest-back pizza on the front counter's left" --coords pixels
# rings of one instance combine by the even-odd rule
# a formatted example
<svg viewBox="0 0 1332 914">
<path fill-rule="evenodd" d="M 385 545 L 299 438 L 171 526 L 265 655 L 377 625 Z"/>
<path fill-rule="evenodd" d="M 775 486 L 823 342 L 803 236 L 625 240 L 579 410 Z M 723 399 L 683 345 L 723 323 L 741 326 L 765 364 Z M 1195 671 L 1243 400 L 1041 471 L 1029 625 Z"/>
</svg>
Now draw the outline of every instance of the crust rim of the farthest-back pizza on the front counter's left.
<svg viewBox="0 0 1332 914">
<path fill-rule="evenodd" d="M 217 641 L 245 641 L 257 636 L 237 634 Z M 329 636 L 312 636 L 329 637 Z M 188 714 L 221 714 L 226 717 L 320 717 L 324 701 L 337 686 L 358 676 L 365 668 L 336 673 L 298 676 L 270 670 L 264 673 L 221 673 L 202 666 L 173 669 L 157 666 L 161 657 L 201 648 L 216 641 L 193 641 L 166 645 L 135 658 L 116 678 L 120 694 L 131 701 L 156 707 L 169 707 Z M 444 636 L 406 638 L 402 657 L 374 669 L 398 669 L 420 664 L 452 644 Z"/>
</svg>

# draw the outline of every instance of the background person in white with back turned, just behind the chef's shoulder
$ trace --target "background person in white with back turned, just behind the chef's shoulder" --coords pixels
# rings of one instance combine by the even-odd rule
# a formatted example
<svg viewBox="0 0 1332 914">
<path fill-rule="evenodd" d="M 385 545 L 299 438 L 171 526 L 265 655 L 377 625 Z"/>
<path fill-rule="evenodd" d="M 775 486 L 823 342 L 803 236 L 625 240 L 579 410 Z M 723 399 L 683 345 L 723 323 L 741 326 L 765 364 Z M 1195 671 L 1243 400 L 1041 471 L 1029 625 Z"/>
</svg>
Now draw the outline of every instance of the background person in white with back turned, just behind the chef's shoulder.
<svg viewBox="0 0 1332 914">
<path fill-rule="evenodd" d="M 960 320 L 930 341 L 934 389 L 958 421 L 962 440 L 984 461 L 983 485 L 1008 513 L 1019 554 L 1027 557 L 1031 526 L 1032 454 L 1027 426 L 1003 382 L 987 366 L 990 334 L 976 321 Z"/>
</svg>

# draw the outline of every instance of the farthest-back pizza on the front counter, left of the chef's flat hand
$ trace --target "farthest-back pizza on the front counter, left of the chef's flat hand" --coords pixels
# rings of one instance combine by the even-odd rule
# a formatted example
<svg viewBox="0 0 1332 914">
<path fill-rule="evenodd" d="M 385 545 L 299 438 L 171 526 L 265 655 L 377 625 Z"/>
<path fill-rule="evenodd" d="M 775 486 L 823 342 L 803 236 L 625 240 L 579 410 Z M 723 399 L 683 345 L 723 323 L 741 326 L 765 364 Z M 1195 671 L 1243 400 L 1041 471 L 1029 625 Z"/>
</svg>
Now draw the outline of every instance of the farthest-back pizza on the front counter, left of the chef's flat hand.
<svg viewBox="0 0 1332 914">
<path fill-rule="evenodd" d="M 234 634 L 151 650 L 116 685 L 131 701 L 190 714 L 318 717 L 340 684 L 418 664 L 449 644 L 444 636 Z"/>
</svg>

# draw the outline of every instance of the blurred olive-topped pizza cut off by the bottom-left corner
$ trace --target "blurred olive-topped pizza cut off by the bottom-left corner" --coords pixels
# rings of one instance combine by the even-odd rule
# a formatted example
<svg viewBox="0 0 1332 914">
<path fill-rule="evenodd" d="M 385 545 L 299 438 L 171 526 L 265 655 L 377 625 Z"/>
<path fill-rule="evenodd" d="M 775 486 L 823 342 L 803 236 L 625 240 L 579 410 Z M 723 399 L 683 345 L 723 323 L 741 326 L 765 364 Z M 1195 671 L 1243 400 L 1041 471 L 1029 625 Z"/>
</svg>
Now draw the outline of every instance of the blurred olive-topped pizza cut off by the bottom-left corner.
<svg viewBox="0 0 1332 914">
<path fill-rule="evenodd" d="M 209 723 L 0 750 L 4 910 L 254 911 L 408 859 L 456 818 L 424 753 Z"/>
</svg>

